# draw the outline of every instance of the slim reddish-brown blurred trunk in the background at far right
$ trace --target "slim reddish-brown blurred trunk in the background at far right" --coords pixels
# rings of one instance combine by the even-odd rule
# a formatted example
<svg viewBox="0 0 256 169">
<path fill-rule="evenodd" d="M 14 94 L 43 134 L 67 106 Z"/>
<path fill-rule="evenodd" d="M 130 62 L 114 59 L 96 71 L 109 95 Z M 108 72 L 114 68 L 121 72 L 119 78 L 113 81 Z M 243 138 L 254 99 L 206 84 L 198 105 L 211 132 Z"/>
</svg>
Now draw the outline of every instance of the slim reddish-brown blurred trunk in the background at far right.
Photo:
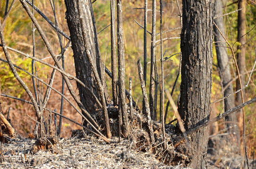
<svg viewBox="0 0 256 169">
<path fill-rule="evenodd" d="M 237 54 L 237 64 L 238 64 L 238 69 L 239 69 L 239 73 L 240 73 L 240 78 L 241 78 L 241 84 L 243 87 L 245 84 L 245 56 L 246 56 L 246 36 L 243 36 L 246 34 L 246 0 L 239 0 L 238 3 L 238 8 L 243 8 L 242 10 L 238 11 L 238 30 L 237 30 L 237 38 L 238 38 L 238 42 L 239 42 L 239 46 L 238 46 L 238 54 Z M 243 37 L 242 37 L 243 36 Z M 240 84 L 239 84 L 239 79 L 237 79 L 236 81 L 236 90 L 239 90 L 240 88 Z M 239 105 L 242 103 L 242 99 L 241 99 L 241 92 L 238 92 L 236 94 L 236 105 Z M 238 112 L 238 120 L 239 120 L 239 128 L 240 130 L 243 128 L 243 112 L 242 109 L 240 109 Z"/>
</svg>

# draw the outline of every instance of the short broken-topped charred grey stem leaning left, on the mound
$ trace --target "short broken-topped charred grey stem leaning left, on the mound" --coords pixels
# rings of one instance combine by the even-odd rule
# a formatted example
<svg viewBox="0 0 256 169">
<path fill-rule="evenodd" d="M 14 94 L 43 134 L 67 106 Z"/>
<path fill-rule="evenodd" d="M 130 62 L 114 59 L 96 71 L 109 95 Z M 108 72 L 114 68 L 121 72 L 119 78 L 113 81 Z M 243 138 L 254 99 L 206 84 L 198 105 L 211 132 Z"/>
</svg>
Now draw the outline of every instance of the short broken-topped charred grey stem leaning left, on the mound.
<svg viewBox="0 0 256 169">
<path fill-rule="evenodd" d="M 147 117 L 147 125 L 148 125 L 148 130 L 149 130 L 148 131 L 149 132 L 149 137 L 151 139 L 151 143 L 154 144 L 155 143 L 155 138 L 154 138 L 154 131 L 153 131 L 151 115 L 150 115 L 149 100 L 148 100 L 148 96 L 147 96 L 145 82 L 144 82 L 144 79 L 143 79 L 143 71 L 142 71 L 142 65 L 140 63 L 140 60 L 138 60 L 137 64 L 138 64 L 138 71 L 139 71 L 142 95 L 143 95 L 143 99 L 145 100 L 145 108 L 146 108 L 146 117 Z"/>
</svg>

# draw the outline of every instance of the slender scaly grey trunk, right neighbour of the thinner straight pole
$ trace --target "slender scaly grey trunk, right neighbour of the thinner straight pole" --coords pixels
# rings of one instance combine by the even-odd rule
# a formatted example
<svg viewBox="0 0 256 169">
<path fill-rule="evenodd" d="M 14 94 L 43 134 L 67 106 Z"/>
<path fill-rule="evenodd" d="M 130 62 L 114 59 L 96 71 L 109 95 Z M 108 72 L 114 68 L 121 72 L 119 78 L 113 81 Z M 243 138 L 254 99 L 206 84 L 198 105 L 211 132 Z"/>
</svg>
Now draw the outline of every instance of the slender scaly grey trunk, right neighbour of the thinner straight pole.
<svg viewBox="0 0 256 169">
<path fill-rule="evenodd" d="M 119 84 L 119 107 L 122 114 L 122 131 L 124 138 L 129 133 L 128 115 L 126 111 L 125 83 L 124 83 L 124 29 L 122 16 L 122 0 L 117 0 L 117 55 L 118 55 L 118 84 Z"/>
</svg>

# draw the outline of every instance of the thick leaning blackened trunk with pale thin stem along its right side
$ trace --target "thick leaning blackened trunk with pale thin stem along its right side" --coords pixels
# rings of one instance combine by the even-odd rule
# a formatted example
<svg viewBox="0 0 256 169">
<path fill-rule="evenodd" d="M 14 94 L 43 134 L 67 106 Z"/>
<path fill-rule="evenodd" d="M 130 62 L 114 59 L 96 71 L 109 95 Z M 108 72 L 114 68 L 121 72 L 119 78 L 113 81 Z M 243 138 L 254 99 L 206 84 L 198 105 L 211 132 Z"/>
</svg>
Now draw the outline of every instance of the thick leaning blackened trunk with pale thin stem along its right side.
<svg viewBox="0 0 256 169">
<path fill-rule="evenodd" d="M 65 3 L 67 25 L 74 53 L 76 77 L 100 100 L 104 112 L 107 137 L 110 137 L 111 133 L 105 101 L 107 92 L 103 80 L 103 68 L 91 0 L 65 0 Z M 81 84 L 77 83 L 77 86 L 83 106 L 88 112 L 94 113 L 97 109 L 97 99 Z"/>
</svg>

